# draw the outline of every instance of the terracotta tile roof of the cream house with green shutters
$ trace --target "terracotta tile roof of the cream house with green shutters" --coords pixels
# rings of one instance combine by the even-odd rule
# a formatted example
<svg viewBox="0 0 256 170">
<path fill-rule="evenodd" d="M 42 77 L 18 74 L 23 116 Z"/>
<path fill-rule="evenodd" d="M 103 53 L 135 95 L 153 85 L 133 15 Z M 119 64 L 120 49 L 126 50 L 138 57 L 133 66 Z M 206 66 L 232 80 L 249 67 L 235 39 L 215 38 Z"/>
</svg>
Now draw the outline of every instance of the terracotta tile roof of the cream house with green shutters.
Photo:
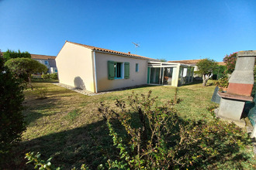
<svg viewBox="0 0 256 170">
<path fill-rule="evenodd" d="M 70 42 L 70 41 L 66 41 L 66 42 Z M 102 48 L 99 48 L 99 47 L 88 46 L 88 45 L 77 43 L 77 42 L 70 42 L 70 43 L 73 43 L 73 44 L 78 45 L 78 46 L 83 46 L 83 47 L 88 48 L 88 49 L 94 49 L 94 50 L 97 50 L 97 51 L 102 51 L 102 52 L 115 53 L 115 54 L 120 54 L 120 55 L 124 55 L 124 56 L 140 58 L 140 59 L 157 60 L 157 59 L 148 58 L 146 56 L 139 56 L 137 54 L 131 54 L 131 53 L 123 53 L 123 52 L 114 51 L 114 50 L 111 50 L 111 49 L 102 49 Z"/>
</svg>

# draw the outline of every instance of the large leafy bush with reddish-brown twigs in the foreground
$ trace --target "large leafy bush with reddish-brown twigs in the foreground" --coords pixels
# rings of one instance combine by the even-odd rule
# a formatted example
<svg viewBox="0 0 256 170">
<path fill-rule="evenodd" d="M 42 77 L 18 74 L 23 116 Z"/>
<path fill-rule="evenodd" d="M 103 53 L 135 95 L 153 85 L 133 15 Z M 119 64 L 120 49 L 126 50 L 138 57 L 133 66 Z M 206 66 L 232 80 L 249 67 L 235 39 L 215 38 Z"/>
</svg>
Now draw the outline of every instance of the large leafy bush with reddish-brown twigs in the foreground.
<svg viewBox="0 0 256 170">
<path fill-rule="evenodd" d="M 106 167 L 216 168 L 232 162 L 232 168 L 240 168 L 238 160 L 251 158 L 243 152 L 251 140 L 235 124 L 227 124 L 218 118 L 209 122 L 185 121 L 173 109 L 173 100 L 163 106 L 157 106 L 155 102 L 156 97 L 150 97 L 148 93 L 147 96 L 133 94 L 128 97 L 129 108 L 122 100 L 116 100 L 118 110 L 110 110 L 101 104 L 99 111 L 107 120 L 114 145 L 119 148 L 119 157 L 115 161 L 109 160 Z M 213 114 L 213 110 L 210 111 Z M 123 125 L 126 135 L 116 132 L 112 120 Z M 237 158 L 236 162 L 232 161 Z"/>
</svg>

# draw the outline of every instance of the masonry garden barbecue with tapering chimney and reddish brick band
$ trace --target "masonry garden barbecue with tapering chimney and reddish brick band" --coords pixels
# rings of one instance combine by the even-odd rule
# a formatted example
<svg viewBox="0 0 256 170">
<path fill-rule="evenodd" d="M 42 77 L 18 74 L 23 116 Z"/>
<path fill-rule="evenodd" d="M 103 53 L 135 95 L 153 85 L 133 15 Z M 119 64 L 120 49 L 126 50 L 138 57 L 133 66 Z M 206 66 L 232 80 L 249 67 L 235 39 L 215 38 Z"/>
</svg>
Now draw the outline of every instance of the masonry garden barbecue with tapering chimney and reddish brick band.
<svg viewBox="0 0 256 170">
<path fill-rule="evenodd" d="M 218 116 L 239 121 L 245 101 L 252 101 L 251 91 L 254 86 L 254 62 L 256 50 L 237 53 L 237 63 L 230 76 L 227 93 L 220 93 Z"/>
</svg>

